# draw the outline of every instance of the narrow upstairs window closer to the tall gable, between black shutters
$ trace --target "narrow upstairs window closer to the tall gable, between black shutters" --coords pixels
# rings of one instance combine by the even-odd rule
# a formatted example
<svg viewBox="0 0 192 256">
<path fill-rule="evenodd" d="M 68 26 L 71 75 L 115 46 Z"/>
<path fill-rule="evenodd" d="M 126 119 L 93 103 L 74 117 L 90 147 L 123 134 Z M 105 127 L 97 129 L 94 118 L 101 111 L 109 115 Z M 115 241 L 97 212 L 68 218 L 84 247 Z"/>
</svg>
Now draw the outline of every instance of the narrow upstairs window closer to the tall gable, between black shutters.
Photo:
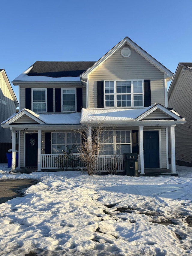
<svg viewBox="0 0 192 256">
<path fill-rule="evenodd" d="M 62 111 L 76 111 L 76 89 L 62 89 Z"/>
</svg>

